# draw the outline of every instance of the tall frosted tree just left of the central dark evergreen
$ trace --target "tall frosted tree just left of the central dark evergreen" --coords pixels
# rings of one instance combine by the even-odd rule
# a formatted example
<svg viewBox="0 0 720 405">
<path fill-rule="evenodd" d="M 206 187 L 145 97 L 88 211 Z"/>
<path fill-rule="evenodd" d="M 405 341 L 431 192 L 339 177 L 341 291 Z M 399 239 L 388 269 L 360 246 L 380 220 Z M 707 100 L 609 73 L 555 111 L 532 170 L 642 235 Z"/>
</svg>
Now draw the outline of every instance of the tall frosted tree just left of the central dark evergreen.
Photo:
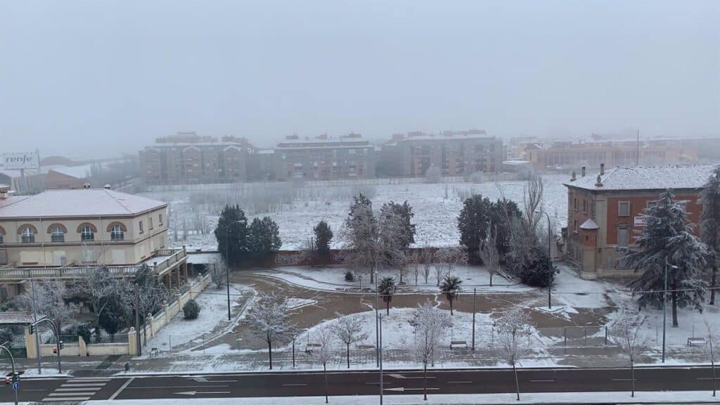
<svg viewBox="0 0 720 405">
<path fill-rule="evenodd" d="M 345 241 L 345 262 L 360 272 L 369 272 L 371 283 L 375 280 L 374 267 L 380 259 L 378 235 L 372 202 L 362 194 L 354 196 L 341 235 Z"/>
</svg>

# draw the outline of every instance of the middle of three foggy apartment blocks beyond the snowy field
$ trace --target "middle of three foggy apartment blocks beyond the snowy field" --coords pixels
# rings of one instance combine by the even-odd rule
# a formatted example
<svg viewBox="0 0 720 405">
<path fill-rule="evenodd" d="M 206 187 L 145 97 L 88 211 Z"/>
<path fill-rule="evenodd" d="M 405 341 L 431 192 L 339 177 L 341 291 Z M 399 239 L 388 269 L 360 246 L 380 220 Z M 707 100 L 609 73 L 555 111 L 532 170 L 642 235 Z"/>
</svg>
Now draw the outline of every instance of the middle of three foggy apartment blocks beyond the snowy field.
<svg viewBox="0 0 720 405">
<path fill-rule="evenodd" d="M 274 153 L 275 179 L 366 179 L 375 177 L 375 148 L 359 133 L 340 138 L 301 139 L 289 135 L 278 143 Z"/>
</svg>

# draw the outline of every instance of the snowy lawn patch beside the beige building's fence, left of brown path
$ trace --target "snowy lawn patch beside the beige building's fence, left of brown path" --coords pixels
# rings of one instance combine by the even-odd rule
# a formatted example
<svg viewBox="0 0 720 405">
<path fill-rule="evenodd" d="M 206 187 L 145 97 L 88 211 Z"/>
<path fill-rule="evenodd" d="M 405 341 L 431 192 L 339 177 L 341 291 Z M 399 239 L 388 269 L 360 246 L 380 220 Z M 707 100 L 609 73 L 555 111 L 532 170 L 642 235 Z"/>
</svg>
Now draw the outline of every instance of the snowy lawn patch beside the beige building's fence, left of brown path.
<svg viewBox="0 0 720 405">
<path fill-rule="evenodd" d="M 230 308 L 235 312 L 240 305 L 238 295 L 248 294 L 248 290 L 242 285 L 231 284 L 230 294 Z M 147 347 L 165 351 L 188 342 L 202 344 L 203 338 L 208 338 L 207 334 L 220 333 L 217 329 L 226 326 L 228 321 L 228 295 L 225 288 L 217 290 L 209 286 L 202 290 L 195 301 L 201 308 L 197 319 L 184 319 L 181 309 L 169 324 L 148 341 Z"/>
</svg>

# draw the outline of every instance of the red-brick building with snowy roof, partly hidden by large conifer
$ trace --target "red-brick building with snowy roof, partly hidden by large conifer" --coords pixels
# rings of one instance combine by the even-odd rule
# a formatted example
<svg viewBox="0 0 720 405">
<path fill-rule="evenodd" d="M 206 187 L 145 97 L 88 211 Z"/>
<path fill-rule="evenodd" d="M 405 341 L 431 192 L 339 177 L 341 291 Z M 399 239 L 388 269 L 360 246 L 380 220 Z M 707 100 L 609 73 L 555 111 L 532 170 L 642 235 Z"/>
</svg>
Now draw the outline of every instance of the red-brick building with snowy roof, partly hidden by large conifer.
<svg viewBox="0 0 720 405">
<path fill-rule="evenodd" d="M 698 223 L 701 205 L 699 190 L 714 166 L 678 165 L 616 167 L 600 174 L 580 176 L 564 183 L 567 187 L 567 256 L 580 265 L 586 279 L 631 276 L 617 252 L 618 246 L 633 243 L 644 226 L 643 210 L 664 190 L 677 200 L 687 201 L 689 220 Z"/>
</svg>

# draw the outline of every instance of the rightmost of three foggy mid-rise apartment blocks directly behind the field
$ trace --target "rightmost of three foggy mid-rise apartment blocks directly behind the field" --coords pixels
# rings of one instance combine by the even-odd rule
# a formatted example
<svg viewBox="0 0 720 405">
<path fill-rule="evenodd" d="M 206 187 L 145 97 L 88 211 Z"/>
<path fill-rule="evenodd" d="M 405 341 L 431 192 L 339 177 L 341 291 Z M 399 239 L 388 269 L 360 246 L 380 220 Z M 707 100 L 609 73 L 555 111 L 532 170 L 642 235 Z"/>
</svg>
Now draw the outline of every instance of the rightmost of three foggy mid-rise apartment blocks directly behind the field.
<svg viewBox="0 0 720 405">
<path fill-rule="evenodd" d="M 484 130 L 395 134 L 381 153 L 389 174 L 406 177 L 424 176 L 431 167 L 443 176 L 500 172 L 505 160 L 503 141 Z"/>
</svg>

